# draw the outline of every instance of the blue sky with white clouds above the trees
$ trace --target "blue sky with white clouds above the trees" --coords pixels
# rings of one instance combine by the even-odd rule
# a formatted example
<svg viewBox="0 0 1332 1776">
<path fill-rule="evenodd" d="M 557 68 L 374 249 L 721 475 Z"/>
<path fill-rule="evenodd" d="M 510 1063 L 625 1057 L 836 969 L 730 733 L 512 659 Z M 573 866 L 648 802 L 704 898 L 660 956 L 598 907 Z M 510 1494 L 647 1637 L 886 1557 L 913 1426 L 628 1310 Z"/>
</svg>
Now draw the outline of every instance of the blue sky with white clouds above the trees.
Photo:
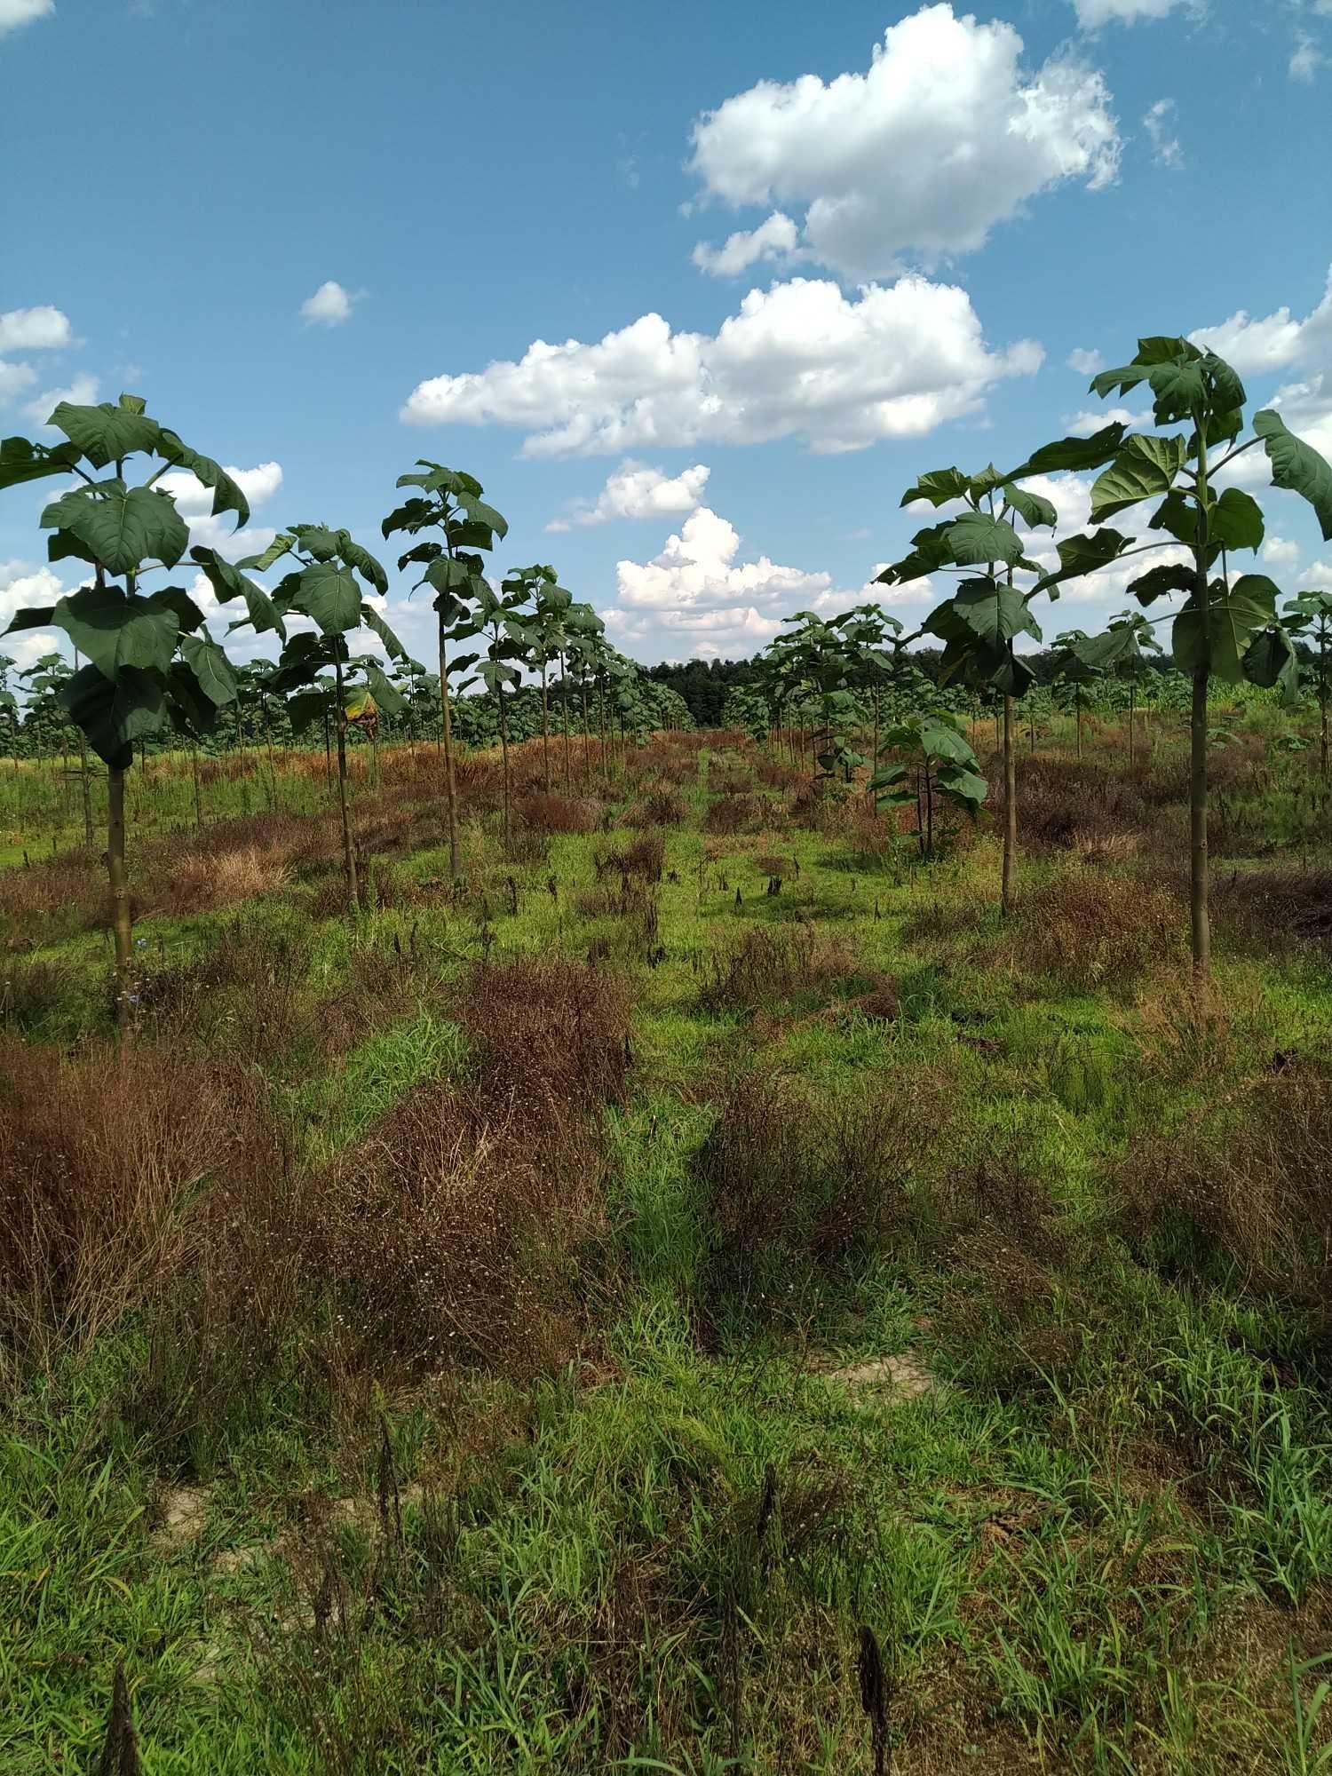
<svg viewBox="0 0 1332 1776">
<path fill-rule="evenodd" d="M 1071 355 L 1215 329 L 1332 455 L 1332 0 L 0 0 L 0 432 L 144 394 L 247 471 L 233 554 L 377 547 L 430 456 L 508 515 L 497 568 L 735 657 L 863 597 L 922 469 L 1090 428 Z M 1265 568 L 1332 584 L 1243 462 Z M 75 583 L 41 503 L 0 503 L 0 618 Z"/>
</svg>

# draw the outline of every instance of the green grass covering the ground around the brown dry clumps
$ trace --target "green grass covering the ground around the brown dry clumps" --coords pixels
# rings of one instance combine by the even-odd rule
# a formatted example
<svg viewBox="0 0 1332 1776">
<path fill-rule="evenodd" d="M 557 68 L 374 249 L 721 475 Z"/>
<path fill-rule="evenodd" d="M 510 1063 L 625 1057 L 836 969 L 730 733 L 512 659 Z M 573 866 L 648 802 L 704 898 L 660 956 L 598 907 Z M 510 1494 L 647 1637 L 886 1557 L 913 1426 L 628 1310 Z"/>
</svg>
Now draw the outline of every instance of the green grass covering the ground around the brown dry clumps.
<svg viewBox="0 0 1332 1776">
<path fill-rule="evenodd" d="M 1236 1272 L 1153 1263 L 1114 1183 L 1138 1142 L 1265 1076 L 1273 1053 L 1327 1064 L 1325 957 L 1222 947 L 1231 1016 L 1190 1046 L 1169 963 L 1131 991 L 1071 993 L 966 961 L 959 945 L 1000 936 L 989 831 L 931 868 L 908 845 L 870 867 L 845 833 L 783 828 L 771 792 L 776 833 L 707 833 L 707 776 L 753 757 L 700 753 L 689 821 L 666 835 L 659 957 L 632 920 L 575 909 L 625 833 L 556 836 L 510 868 L 492 819 L 472 824 L 480 863 L 456 902 L 430 886 L 448 867 L 430 849 L 377 865 L 421 899 L 357 920 L 311 920 L 295 881 L 140 922 L 151 975 L 206 959 L 231 927 L 250 947 L 298 934 L 304 1011 L 247 1066 L 302 1162 L 352 1147 L 423 1083 L 478 1080 L 462 995 L 483 954 L 609 943 L 604 966 L 632 986 L 634 1066 L 599 1117 L 604 1225 L 567 1254 L 581 1311 L 549 1364 L 368 1360 L 336 1291 L 275 1344 L 247 1343 L 169 1289 L 91 1352 L 9 1366 L 0 1767 L 89 1767 L 123 1662 L 153 1776 L 842 1776 L 870 1769 L 863 1625 L 900 1771 L 1328 1767 L 1325 1346 Z M 302 780 L 291 805 L 309 794 L 314 812 L 318 789 Z M 611 808 L 630 792 L 616 783 Z M 1304 844 L 1284 794 L 1254 789 L 1277 842 Z M 771 851 L 799 861 L 780 895 L 753 861 Z M 1023 884 L 1060 868 L 1032 861 Z M 959 929 L 908 941 L 931 906 L 957 909 Z M 849 971 L 700 1007 L 718 954 L 806 920 L 849 943 Z M 25 1039 L 105 1039 L 101 936 L 57 932 L 18 966 L 37 963 L 66 973 Z M 883 977 L 892 1021 L 860 1005 Z M 250 987 L 222 991 L 231 1023 L 172 1039 L 238 1043 Z M 1021 1247 L 1018 1224 L 948 1224 L 941 1208 L 934 1227 L 815 1266 L 797 1311 L 721 1302 L 700 1153 L 749 1071 L 847 1108 L 940 1082 L 908 1195 L 1019 1167 L 1048 1199 L 1046 1245 L 1003 1270 L 995 1250 Z M 163 1325 L 179 1336 L 163 1343 Z M 231 1385 L 204 1398 L 208 1336 L 233 1341 Z M 833 1373 L 890 1355 L 936 1385 Z M 385 1437 L 401 1538 L 377 1504 Z M 181 1487 L 190 1534 L 163 1527 Z"/>
</svg>

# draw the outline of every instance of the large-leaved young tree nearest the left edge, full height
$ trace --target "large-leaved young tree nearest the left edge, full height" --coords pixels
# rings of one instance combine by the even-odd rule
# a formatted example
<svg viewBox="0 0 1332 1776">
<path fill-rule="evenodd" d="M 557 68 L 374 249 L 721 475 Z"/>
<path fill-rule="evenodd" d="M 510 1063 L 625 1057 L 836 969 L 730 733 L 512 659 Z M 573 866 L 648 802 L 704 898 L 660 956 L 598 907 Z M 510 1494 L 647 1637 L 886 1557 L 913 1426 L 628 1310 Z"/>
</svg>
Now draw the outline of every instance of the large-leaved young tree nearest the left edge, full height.
<svg viewBox="0 0 1332 1776">
<path fill-rule="evenodd" d="M 64 432 L 66 442 L 44 446 L 14 437 L 0 444 L 0 488 L 48 476 L 76 478 L 78 485 L 44 508 L 41 526 L 52 533 L 48 559 L 83 563 L 92 570 L 92 583 L 53 606 L 20 611 L 11 629 L 60 629 L 87 659 L 71 677 L 62 702 L 107 764 L 115 1011 L 124 1028 L 133 954 L 124 778 L 133 764 L 133 742 L 158 732 L 172 716 L 211 728 L 218 707 L 236 696 L 234 670 L 208 634 L 194 599 L 181 586 L 142 590 L 149 575 L 176 568 L 190 543 L 176 501 L 155 483 L 169 469 L 188 471 L 211 490 L 215 515 L 233 511 L 240 526 L 250 510 L 226 469 L 151 419 L 137 394 L 123 394 L 115 405 L 60 401 L 50 424 Z M 142 485 L 124 478 L 124 465 L 133 456 L 160 458 Z M 233 593 L 224 590 L 218 597 L 226 602 Z"/>
</svg>

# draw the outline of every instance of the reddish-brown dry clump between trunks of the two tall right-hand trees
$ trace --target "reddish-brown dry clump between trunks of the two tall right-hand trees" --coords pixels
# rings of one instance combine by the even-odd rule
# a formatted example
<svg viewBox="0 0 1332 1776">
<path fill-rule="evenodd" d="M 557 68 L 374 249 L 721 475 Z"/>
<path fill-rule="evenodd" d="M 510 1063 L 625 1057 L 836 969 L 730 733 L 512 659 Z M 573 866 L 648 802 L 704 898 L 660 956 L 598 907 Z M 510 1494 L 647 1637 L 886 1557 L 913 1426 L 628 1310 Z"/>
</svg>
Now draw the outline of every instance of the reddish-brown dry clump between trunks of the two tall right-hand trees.
<svg viewBox="0 0 1332 1776">
<path fill-rule="evenodd" d="M 984 961 L 1073 989 L 1115 989 L 1183 955 L 1185 940 L 1185 908 L 1167 888 L 1073 865 L 1021 897 L 1014 918 L 984 947 Z"/>
</svg>

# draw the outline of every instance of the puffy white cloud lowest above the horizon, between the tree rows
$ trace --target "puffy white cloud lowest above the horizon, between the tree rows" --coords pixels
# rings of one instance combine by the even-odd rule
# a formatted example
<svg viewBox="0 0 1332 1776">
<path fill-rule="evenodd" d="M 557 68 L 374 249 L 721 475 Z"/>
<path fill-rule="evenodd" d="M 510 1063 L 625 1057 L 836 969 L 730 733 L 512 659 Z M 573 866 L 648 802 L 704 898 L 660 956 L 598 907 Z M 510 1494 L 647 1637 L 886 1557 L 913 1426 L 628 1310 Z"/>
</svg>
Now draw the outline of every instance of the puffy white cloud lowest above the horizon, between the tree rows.
<svg viewBox="0 0 1332 1776">
<path fill-rule="evenodd" d="M 739 551 L 735 526 L 700 506 L 652 561 L 616 563 L 620 604 L 639 611 L 698 613 L 755 600 L 806 599 L 831 584 L 828 574 L 776 567 L 767 556 L 737 565 Z"/>
</svg>

